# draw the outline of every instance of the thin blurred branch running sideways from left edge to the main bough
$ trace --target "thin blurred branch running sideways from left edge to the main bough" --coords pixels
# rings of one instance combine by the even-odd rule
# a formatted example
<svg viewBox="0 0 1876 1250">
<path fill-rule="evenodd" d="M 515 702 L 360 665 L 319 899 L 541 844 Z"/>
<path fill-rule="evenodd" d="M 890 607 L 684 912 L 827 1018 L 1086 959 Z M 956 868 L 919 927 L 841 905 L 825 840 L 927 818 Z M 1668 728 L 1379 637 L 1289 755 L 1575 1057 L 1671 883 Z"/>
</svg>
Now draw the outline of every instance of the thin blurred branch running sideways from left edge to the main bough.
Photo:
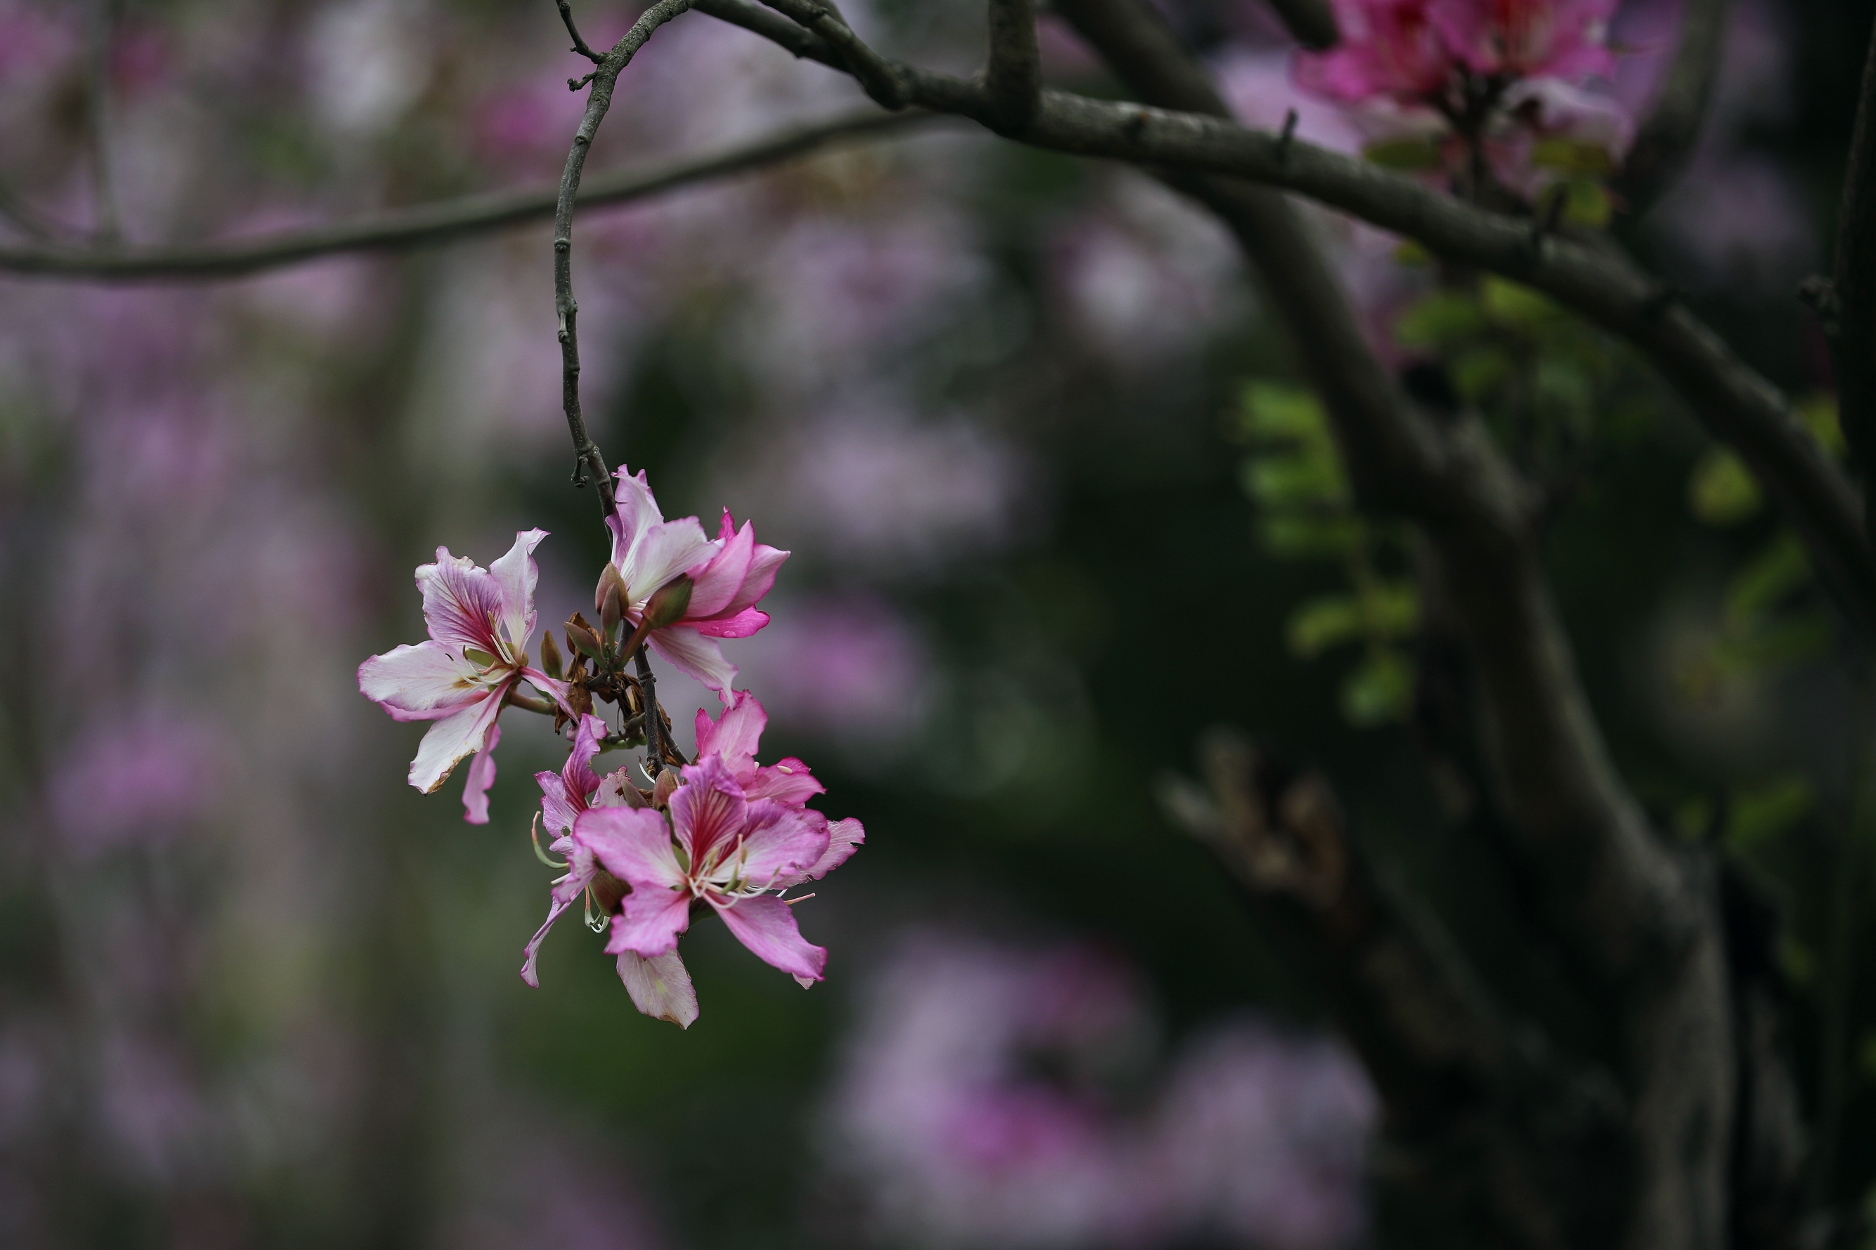
<svg viewBox="0 0 1876 1250">
<path fill-rule="evenodd" d="M 932 122 L 936 114 L 850 112 L 831 122 L 786 129 L 726 152 L 649 169 L 623 169 L 580 184 L 580 208 L 628 204 L 677 187 L 743 174 L 807 156 L 842 139 L 863 139 Z M 552 217 L 559 187 L 495 191 L 366 214 L 338 225 L 280 231 L 240 242 L 195 247 L 0 247 L 0 272 L 105 281 L 212 281 L 259 274 L 351 251 L 424 247 Z"/>
</svg>

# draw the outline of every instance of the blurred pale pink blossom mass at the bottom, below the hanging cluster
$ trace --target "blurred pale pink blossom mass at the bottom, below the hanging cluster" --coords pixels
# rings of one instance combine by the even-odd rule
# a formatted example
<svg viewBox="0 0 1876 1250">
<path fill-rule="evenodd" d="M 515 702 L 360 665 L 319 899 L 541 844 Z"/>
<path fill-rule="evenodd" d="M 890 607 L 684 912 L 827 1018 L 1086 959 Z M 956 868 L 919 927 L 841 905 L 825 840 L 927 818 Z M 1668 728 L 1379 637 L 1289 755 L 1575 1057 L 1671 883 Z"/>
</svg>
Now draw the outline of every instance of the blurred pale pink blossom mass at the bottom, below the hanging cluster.
<svg viewBox="0 0 1876 1250">
<path fill-rule="evenodd" d="M 915 1246 L 1323 1250 L 1364 1229 L 1373 1096 L 1336 1046 L 1208 1029 L 1150 1076 L 1152 1014 L 1086 946 L 902 939 L 827 1104 L 872 1233 Z"/>
</svg>

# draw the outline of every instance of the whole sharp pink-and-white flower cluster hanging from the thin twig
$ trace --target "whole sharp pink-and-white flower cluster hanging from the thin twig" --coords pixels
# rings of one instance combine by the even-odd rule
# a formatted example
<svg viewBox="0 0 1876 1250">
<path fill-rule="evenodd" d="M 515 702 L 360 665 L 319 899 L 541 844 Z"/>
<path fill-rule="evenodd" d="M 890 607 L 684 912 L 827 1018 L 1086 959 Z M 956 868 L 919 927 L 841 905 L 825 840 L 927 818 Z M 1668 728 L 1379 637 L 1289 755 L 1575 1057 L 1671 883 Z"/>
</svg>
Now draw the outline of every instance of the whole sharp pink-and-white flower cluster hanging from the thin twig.
<svg viewBox="0 0 1876 1250">
<path fill-rule="evenodd" d="M 754 527 L 737 528 L 728 512 L 717 538 L 705 538 L 696 517 L 666 521 L 643 472 L 617 476 L 617 508 L 606 517 L 612 560 L 593 603 L 598 622 L 582 613 L 567 620 L 570 662 L 550 632 L 540 667 L 529 663 L 533 551 L 546 532 L 527 530 L 488 570 L 439 547 L 437 562 L 416 570 L 430 639 L 366 660 L 358 690 L 396 720 L 435 722 L 411 763 L 416 789 L 435 793 L 471 759 L 463 789 L 471 823 L 488 821 L 503 707 L 553 718 L 570 746 L 559 772 L 535 774 L 535 851 L 567 871 L 527 943 L 522 980 L 538 986 L 540 945 L 585 900 L 587 924 L 610 924 L 606 954 L 617 956 L 638 1010 L 688 1027 L 698 1004 L 677 939 L 692 913 L 715 913 L 756 956 L 810 986 L 827 952 L 801 937 L 792 911 L 801 898 L 782 896 L 839 868 L 865 830 L 807 806 L 824 787 L 799 759 L 756 763 L 767 714 L 752 693 L 732 690 L 737 669 L 719 645 L 769 622 L 756 603 L 788 553 L 758 543 Z M 698 710 L 694 761 L 672 742 L 647 650 L 724 703 L 717 718 Z M 523 692 L 523 682 L 538 693 Z M 613 705 L 615 723 L 604 705 Z M 600 753 L 634 746 L 645 750 L 642 763 L 606 776 L 593 770 Z M 542 817 L 563 860 L 540 853 Z"/>
</svg>

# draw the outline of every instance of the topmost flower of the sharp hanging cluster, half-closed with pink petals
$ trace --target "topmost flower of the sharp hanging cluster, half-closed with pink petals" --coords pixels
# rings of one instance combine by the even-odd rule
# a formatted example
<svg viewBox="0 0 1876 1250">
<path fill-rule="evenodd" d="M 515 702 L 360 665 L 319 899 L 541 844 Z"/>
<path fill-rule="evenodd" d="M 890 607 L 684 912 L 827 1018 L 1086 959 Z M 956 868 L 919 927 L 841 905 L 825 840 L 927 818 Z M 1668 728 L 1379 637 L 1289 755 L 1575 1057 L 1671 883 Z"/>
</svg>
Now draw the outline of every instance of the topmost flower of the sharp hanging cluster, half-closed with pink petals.
<svg viewBox="0 0 1876 1250">
<path fill-rule="evenodd" d="M 756 603 L 775 585 L 775 572 L 788 558 L 756 542 L 756 528 L 737 530 L 730 510 L 715 540 L 704 538 L 696 517 L 666 521 L 645 474 L 619 469 L 619 510 L 606 517 L 612 528 L 612 562 L 625 577 L 627 620 L 638 628 L 651 596 L 679 577 L 688 577 L 690 598 L 683 613 L 647 633 L 651 648 L 698 678 L 722 699 L 730 697 L 735 665 L 722 658 L 720 637 L 749 637 L 769 624 Z"/>
</svg>

